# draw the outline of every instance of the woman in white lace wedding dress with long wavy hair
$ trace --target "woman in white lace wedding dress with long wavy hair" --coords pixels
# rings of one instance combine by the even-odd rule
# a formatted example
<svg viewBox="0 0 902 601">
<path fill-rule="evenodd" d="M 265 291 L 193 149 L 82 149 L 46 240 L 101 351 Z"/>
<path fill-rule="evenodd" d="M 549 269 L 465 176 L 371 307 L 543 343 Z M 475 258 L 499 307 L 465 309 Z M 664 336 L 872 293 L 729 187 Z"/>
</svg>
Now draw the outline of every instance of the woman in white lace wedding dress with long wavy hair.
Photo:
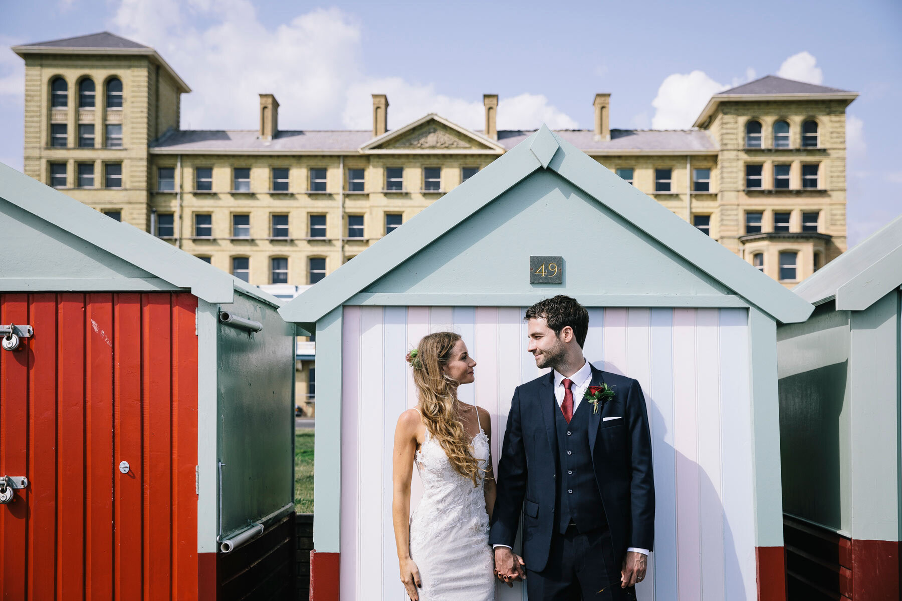
<svg viewBox="0 0 902 601">
<path fill-rule="evenodd" d="M 419 404 L 395 428 L 391 514 L 400 579 L 412 601 L 492 601 L 492 425 L 488 412 L 457 398 L 457 387 L 474 381 L 476 362 L 453 332 L 424 336 L 408 362 Z M 410 515 L 414 463 L 424 491 Z"/>
</svg>

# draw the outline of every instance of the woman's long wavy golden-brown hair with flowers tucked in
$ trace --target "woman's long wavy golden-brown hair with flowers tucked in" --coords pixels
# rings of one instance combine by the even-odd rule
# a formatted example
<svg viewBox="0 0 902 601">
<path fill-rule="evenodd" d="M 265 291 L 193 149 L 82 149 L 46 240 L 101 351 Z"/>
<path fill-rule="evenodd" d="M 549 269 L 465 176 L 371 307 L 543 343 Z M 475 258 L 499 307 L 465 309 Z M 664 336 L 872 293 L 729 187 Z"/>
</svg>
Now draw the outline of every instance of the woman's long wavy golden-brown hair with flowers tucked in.
<svg viewBox="0 0 902 601">
<path fill-rule="evenodd" d="M 435 332 L 423 336 L 417 352 L 410 353 L 408 361 L 413 368 L 413 381 L 419 391 L 419 409 L 429 434 L 438 441 L 451 462 L 451 466 L 464 478 L 478 486 L 480 472 L 473 456 L 473 446 L 467 441 L 464 426 L 457 419 L 455 410 L 456 382 L 442 373 L 451 351 L 460 340 L 455 332 Z"/>
</svg>

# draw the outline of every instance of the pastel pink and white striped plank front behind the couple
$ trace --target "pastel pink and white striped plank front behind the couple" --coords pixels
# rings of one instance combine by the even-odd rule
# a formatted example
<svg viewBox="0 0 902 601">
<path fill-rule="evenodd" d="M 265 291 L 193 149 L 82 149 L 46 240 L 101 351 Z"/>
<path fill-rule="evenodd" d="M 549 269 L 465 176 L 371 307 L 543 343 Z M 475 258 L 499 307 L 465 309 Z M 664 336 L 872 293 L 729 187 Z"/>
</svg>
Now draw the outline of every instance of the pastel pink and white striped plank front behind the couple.
<svg viewBox="0 0 902 601">
<path fill-rule="evenodd" d="M 513 388 L 548 372 L 526 351 L 523 312 L 345 306 L 343 601 L 370 598 L 373 590 L 391 601 L 406 598 L 391 525 L 390 460 L 398 415 L 417 402 L 405 352 L 428 332 L 462 335 L 478 365 L 474 385 L 462 387 L 460 396 L 491 415 L 497 468 Z M 595 367 L 638 379 L 649 410 L 656 540 L 649 577 L 637 587 L 640 598 L 755 598 L 747 311 L 590 307 L 589 312 L 586 358 Z M 416 469 L 413 478 L 411 509 L 422 490 Z M 497 598 L 525 600 L 525 588 L 499 584 Z"/>
</svg>

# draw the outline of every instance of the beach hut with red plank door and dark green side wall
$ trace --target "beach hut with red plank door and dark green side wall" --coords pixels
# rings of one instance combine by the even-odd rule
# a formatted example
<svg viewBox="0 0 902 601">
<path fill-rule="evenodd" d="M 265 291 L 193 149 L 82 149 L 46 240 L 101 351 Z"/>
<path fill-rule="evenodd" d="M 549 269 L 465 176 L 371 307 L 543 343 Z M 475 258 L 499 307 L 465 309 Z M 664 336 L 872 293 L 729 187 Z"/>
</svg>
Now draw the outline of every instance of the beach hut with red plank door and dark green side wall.
<svg viewBox="0 0 902 601">
<path fill-rule="evenodd" d="M 281 303 L 5 165 L 0 229 L 0 596 L 288 598 Z"/>
</svg>

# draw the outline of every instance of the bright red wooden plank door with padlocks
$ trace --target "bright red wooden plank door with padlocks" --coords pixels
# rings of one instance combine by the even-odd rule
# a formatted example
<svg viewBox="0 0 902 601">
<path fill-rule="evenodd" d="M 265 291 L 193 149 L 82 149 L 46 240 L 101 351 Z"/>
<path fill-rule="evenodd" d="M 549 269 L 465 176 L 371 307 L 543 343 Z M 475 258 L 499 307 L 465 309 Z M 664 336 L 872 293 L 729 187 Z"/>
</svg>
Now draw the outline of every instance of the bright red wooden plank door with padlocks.
<svg viewBox="0 0 902 601">
<path fill-rule="evenodd" d="M 0 599 L 196 599 L 197 299 L 3 294 Z M 129 469 L 122 473 L 121 461 Z"/>
</svg>

